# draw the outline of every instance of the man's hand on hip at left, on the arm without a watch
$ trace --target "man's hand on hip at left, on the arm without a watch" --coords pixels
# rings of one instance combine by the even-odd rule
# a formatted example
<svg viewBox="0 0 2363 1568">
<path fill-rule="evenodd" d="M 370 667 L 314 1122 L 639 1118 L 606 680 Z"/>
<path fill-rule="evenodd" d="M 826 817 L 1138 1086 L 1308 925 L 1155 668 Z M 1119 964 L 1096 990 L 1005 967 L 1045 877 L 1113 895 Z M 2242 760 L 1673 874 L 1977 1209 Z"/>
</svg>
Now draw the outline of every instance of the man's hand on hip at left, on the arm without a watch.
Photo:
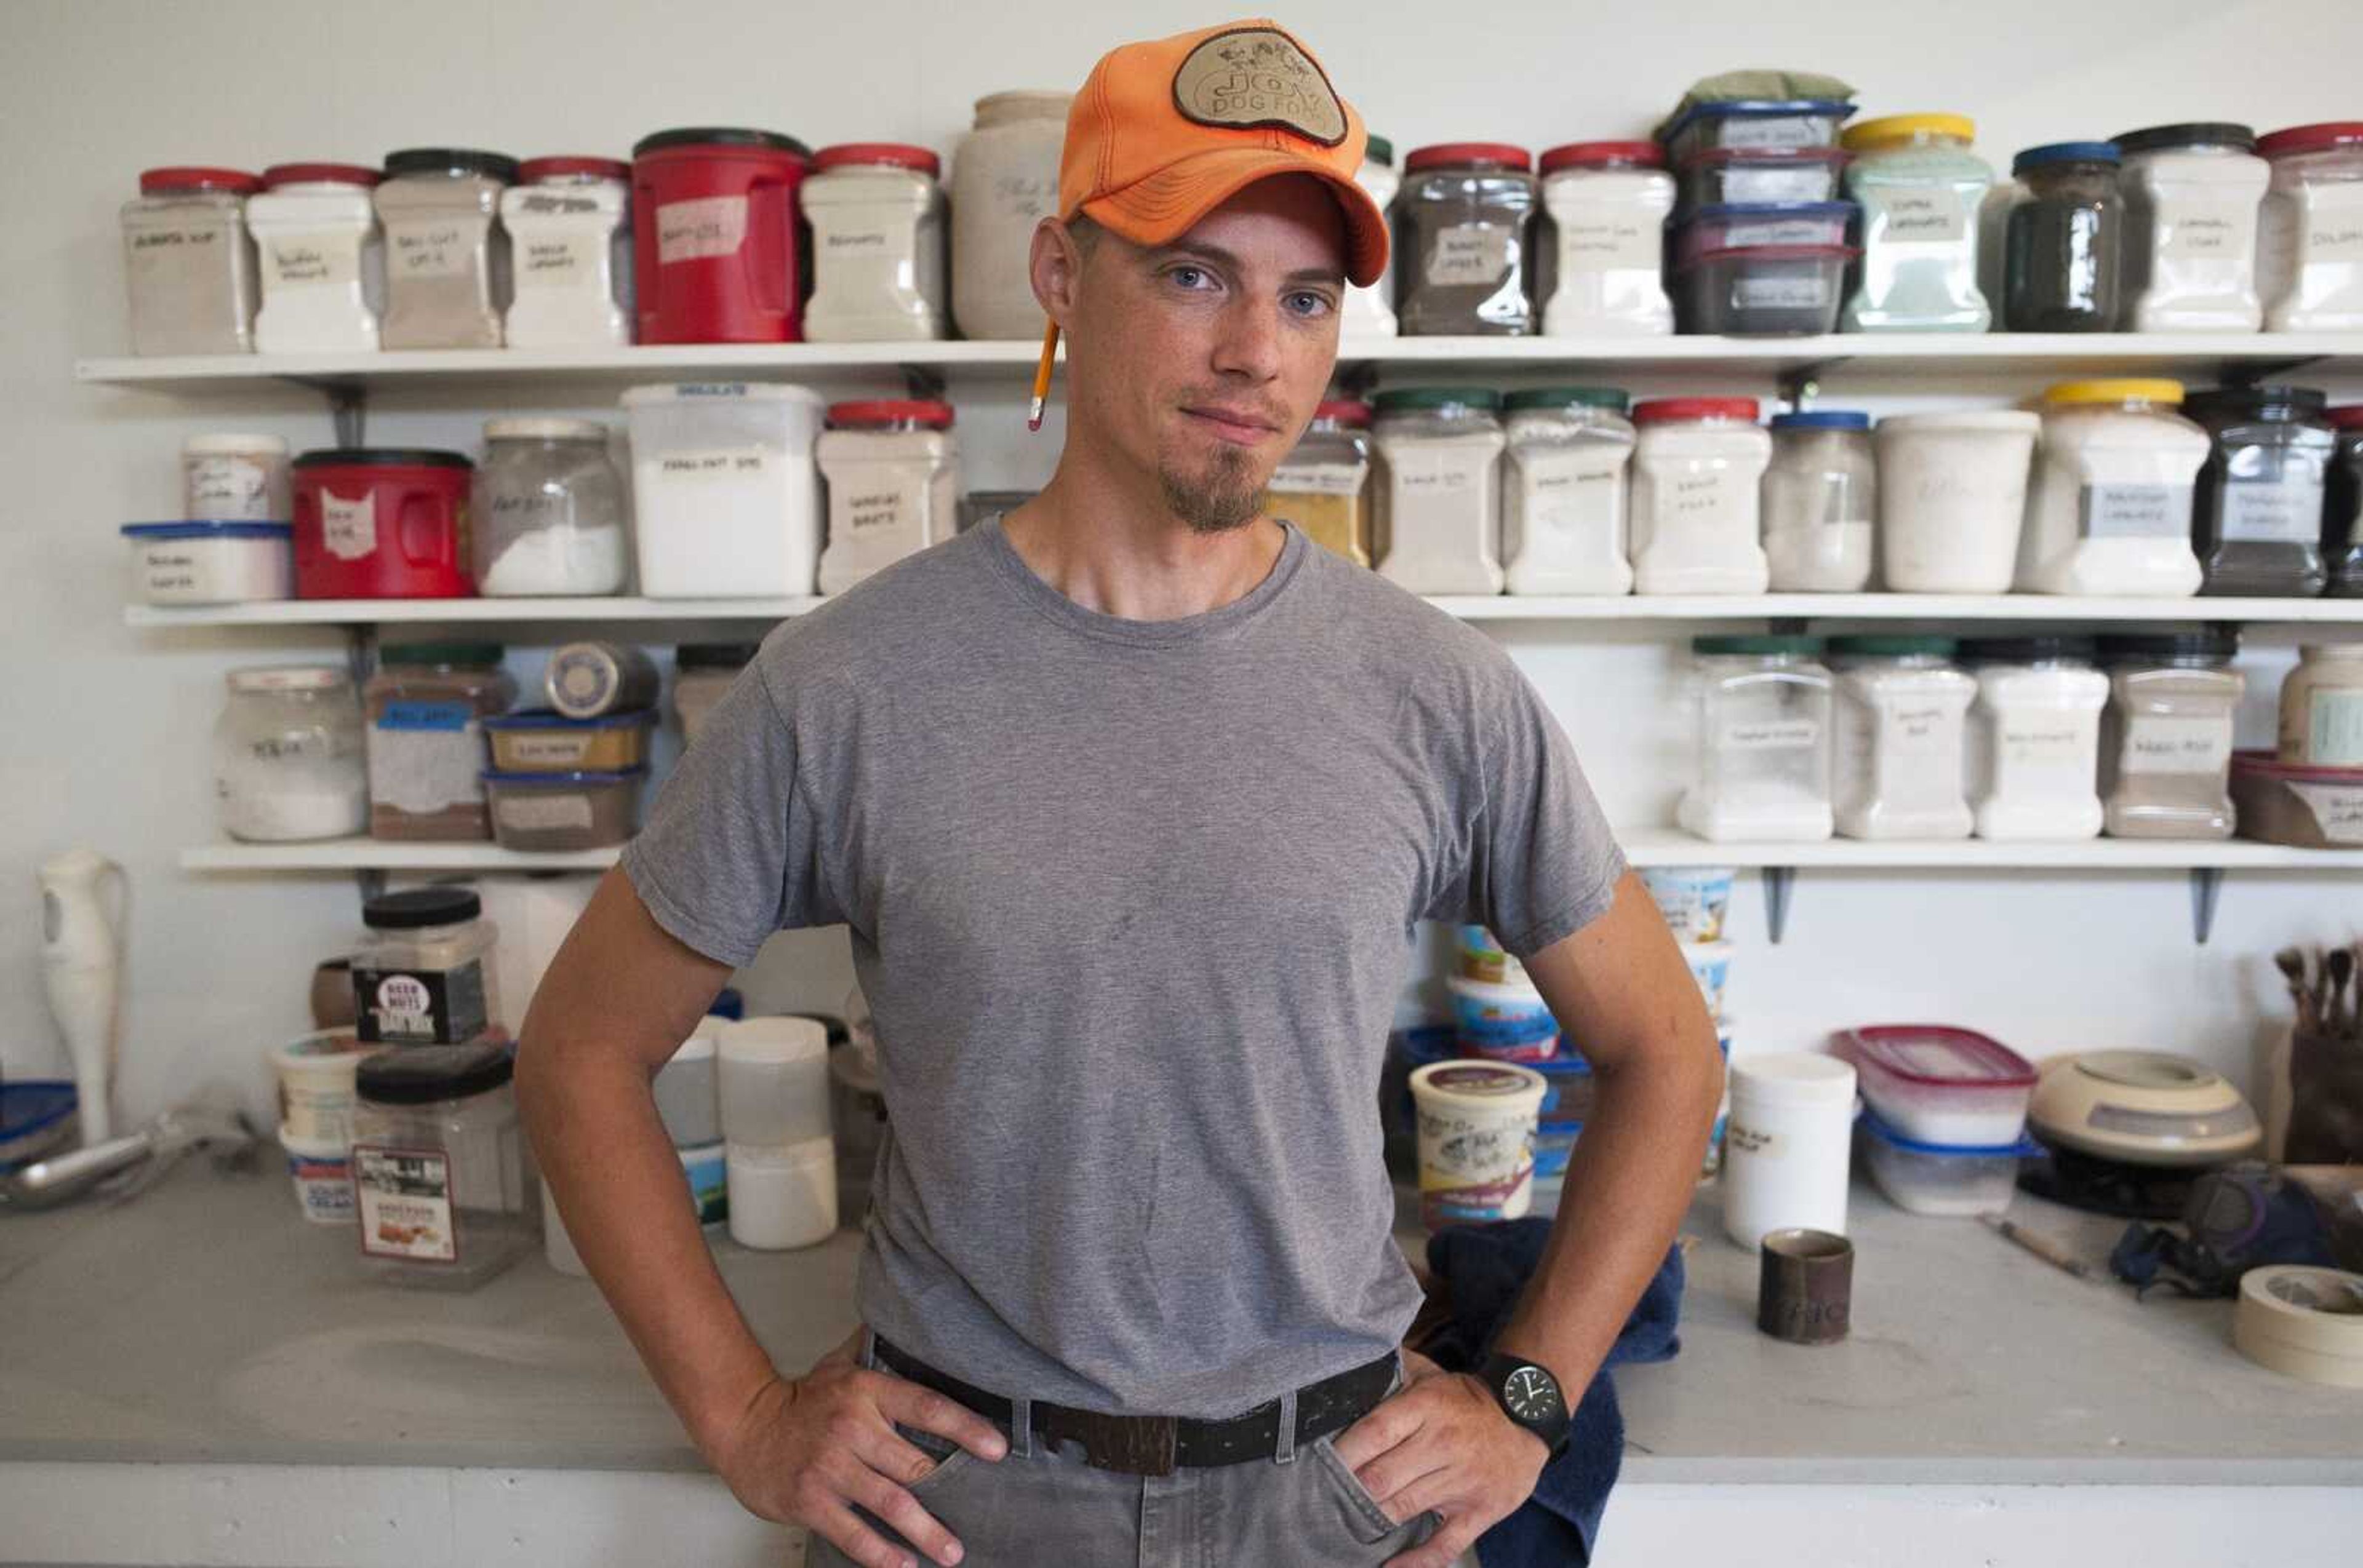
<svg viewBox="0 0 2363 1568">
<path fill-rule="evenodd" d="M 959 1443 L 978 1459 L 1000 1459 L 1009 1440 L 985 1417 L 931 1389 L 865 1372 L 860 1332 L 789 1381 L 775 1377 L 707 1459 L 751 1514 L 825 1535 L 862 1568 L 917 1568 L 910 1554 L 865 1525 L 855 1504 L 884 1518 L 938 1563 L 962 1547 L 919 1507 L 907 1488 L 936 1459 L 907 1443 L 896 1422 Z"/>
</svg>

